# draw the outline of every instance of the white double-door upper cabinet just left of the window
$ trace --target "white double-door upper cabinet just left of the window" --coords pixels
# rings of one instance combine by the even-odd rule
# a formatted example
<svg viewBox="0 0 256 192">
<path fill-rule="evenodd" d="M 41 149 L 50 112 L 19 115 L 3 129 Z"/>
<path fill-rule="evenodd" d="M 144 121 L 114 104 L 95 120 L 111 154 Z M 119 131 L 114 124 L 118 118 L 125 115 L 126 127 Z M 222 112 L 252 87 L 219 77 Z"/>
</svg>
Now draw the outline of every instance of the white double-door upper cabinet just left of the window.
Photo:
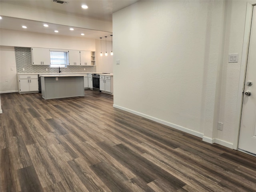
<svg viewBox="0 0 256 192">
<path fill-rule="evenodd" d="M 32 65 L 50 65 L 50 49 L 48 48 L 31 48 Z"/>
</svg>

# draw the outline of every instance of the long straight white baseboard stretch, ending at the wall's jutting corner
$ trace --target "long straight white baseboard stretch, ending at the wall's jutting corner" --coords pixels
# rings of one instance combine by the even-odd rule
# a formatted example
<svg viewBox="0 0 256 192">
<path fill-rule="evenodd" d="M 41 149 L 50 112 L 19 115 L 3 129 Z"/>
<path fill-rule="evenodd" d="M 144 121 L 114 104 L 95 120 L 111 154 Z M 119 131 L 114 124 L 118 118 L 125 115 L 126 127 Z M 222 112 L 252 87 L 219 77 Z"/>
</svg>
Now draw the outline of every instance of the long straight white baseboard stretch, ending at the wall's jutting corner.
<svg viewBox="0 0 256 192">
<path fill-rule="evenodd" d="M 194 131 L 194 130 L 191 130 L 191 129 L 188 129 L 188 128 L 185 128 L 185 127 L 182 127 L 182 126 L 178 126 L 176 124 L 172 124 L 170 122 L 167 122 L 167 121 L 164 121 L 164 120 L 161 120 L 161 119 L 158 119 L 158 118 L 155 118 L 155 117 L 152 117 L 152 116 L 149 116 L 149 115 L 146 115 L 146 114 L 143 114 L 143 113 L 140 113 L 140 112 L 136 112 L 134 110 L 130 110 L 130 109 L 127 109 L 127 108 L 124 108 L 124 107 L 120 107 L 118 105 L 113 105 L 114 108 L 118 108 L 118 109 L 121 109 L 121 110 L 124 110 L 124 111 L 127 111 L 127 112 L 130 112 L 132 114 L 135 114 L 135 115 L 138 115 L 138 116 L 141 116 L 141 117 L 144 117 L 146 119 L 150 119 L 152 121 L 155 121 L 155 122 L 158 122 L 158 123 L 161 123 L 161 124 L 164 124 L 166 126 L 169 126 L 169 127 L 172 127 L 172 128 L 175 128 L 175 129 L 178 129 L 180 131 L 184 131 L 186 133 L 189 133 L 189 134 L 192 134 L 194 136 L 198 136 L 200 138 L 203 137 L 203 134 L 200 133 L 200 132 L 197 132 L 197 131 Z"/>
</svg>

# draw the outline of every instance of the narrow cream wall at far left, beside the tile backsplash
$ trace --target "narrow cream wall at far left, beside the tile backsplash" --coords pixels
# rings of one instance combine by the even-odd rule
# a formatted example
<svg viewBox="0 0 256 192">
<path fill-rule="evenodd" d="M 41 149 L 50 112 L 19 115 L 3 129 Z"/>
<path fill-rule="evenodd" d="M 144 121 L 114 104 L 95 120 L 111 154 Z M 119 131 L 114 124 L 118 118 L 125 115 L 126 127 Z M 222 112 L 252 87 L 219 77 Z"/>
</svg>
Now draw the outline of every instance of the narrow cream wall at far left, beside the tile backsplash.
<svg viewBox="0 0 256 192">
<path fill-rule="evenodd" d="M 14 47 L 0 46 L 0 92 L 18 92 Z"/>
</svg>

